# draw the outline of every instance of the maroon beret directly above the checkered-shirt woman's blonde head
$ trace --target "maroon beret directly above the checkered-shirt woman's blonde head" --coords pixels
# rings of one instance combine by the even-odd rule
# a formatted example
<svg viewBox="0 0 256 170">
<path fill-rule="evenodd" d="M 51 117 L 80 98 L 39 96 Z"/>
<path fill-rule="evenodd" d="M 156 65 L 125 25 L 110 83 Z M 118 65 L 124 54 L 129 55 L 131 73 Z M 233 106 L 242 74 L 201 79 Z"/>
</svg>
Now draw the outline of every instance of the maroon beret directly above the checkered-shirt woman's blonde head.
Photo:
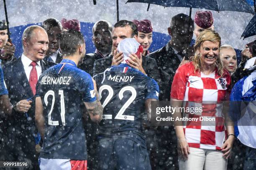
<svg viewBox="0 0 256 170">
<path fill-rule="evenodd" d="M 201 28 L 207 29 L 213 25 L 213 17 L 210 11 L 197 11 L 194 22 Z"/>
</svg>

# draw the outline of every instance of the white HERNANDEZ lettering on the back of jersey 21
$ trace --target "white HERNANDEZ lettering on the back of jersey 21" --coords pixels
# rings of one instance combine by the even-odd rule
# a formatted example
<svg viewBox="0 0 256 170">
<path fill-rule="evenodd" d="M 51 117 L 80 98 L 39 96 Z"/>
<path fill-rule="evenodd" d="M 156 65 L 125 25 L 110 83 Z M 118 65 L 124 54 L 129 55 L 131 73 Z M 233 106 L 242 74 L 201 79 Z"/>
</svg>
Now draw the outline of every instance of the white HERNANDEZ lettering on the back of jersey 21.
<svg viewBox="0 0 256 170">
<path fill-rule="evenodd" d="M 41 85 L 69 85 L 71 77 L 49 77 L 45 76 L 41 80 Z"/>
</svg>

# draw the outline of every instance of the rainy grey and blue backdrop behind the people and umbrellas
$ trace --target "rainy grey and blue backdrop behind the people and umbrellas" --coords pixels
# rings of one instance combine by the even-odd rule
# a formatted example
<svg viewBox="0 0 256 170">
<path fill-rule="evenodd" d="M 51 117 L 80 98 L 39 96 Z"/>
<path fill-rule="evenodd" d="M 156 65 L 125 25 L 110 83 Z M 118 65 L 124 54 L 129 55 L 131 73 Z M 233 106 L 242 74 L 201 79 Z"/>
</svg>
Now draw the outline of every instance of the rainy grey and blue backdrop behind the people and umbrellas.
<svg viewBox="0 0 256 170">
<path fill-rule="evenodd" d="M 253 0 L 247 0 L 253 5 Z M 78 19 L 81 22 L 81 32 L 86 40 L 86 53 L 95 51 L 92 43 L 92 26 L 97 20 L 108 20 L 115 24 L 117 21 L 116 0 L 7 0 L 8 18 L 10 23 L 11 38 L 16 46 L 15 56 L 22 54 L 21 36 L 28 25 L 40 24 L 47 18 Z M 119 0 L 119 20 L 151 20 L 154 28 L 153 43 L 150 51 L 153 52 L 163 47 L 168 40 L 167 28 L 172 16 L 179 13 L 189 15 L 189 8 L 162 7 L 144 3 L 126 3 L 127 0 Z M 230 4 L 232 5 L 232 4 Z M 5 19 L 3 3 L 0 3 L 0 19 Z M 192 9 L 192 19 L 197 10 Z M 236 49 L 243 50 L 246 43 L 256 39 L 256 36 L 243 40 L 241 35 L 246 25 L 253 17 L 250 13 L 233 11 L 211 11 L 214 17 L 214 27 L 222 38 L 222 44 L 229 44 Z M 193 37 L 195 39 L 195 36 Z"/>
</svg>

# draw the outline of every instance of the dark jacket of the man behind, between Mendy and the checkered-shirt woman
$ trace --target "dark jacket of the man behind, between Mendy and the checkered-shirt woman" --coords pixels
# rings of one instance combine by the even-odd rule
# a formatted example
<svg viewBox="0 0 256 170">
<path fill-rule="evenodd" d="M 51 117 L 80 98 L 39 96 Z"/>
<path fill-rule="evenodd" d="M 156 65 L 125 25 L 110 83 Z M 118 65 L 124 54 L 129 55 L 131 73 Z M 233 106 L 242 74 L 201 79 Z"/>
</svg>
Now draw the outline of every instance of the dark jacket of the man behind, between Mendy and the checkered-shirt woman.
<svg viewBox="0 0 256 170">
<path fill-rule="evenodd" d="M 156 64 L 160 71 L 161 80 L 158 82 L 160 90 L 159 100 L 169 101 L 172 80 L 180 64 L 179 57 L 175 54 L 169 42 L 161 49 L 156 50 L 147 56 L 156 60 Z"/>
</svg>

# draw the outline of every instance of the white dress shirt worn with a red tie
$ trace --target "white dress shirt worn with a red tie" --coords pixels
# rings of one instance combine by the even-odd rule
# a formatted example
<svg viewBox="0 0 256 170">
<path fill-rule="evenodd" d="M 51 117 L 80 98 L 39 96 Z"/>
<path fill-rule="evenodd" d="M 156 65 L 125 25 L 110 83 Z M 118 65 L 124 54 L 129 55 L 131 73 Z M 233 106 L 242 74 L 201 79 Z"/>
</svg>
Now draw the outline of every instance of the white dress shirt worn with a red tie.
<svg viewBox="0 0 256 170">
<path fill-rule="evenodd" d="M 32 66 L 30 65 L 32 60 L 30 60 L 28 57 L 26 57 L 24 54 L 21 55 L 21 62 L 23 64 L 27 79 L 29 81 L 30 72 L 32 70 Z M 36 72 L 37 72 L 37 80 L 39 79 L 39 76 L 42 74 L 42 68 L 40 65 L 40 61 L 36 62 Z"/>
</svg>

